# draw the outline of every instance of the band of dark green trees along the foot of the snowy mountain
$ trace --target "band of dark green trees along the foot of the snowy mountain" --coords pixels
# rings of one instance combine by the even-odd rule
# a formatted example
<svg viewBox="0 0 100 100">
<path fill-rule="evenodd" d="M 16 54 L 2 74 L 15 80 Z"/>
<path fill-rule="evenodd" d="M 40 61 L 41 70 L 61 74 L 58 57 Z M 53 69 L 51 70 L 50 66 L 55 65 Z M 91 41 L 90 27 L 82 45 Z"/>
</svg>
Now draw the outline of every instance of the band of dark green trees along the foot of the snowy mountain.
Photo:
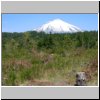
<svg viewBox="0 0 100 100">
<path fill-rule="evenodd" d="M 84 31 L 65 34 L 46 34 L 44 32 L 27 31 L 21 33 L 2 33 L 2 47 L 31 49 L 34 45 L 38 50 L 62 52 L 74 48 L 96 48 L 98 45 L 98 31 Z"/>
</svg>

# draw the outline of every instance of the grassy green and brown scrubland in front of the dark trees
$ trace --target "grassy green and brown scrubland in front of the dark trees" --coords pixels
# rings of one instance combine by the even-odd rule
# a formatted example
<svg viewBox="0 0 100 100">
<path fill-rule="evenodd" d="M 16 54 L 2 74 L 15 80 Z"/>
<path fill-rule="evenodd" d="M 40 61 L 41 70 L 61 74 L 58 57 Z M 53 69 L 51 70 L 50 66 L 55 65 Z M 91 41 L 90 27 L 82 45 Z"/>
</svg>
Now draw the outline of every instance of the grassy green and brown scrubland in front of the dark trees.
<svg viewBox="0 0 100 100">
<path fill-rule="evenodd" d="M 66 85 L 73 85 L 76 72 L 86 70 L 90 61 L 97 57 L 96 52 L 96 49 L 83 50 L 81 54 L 71 51 L 64 57 L 58 54 L 35 52 L 35 55 L 31 54 L 29 59 L 23 56 L 23 59 L 3 60 L 3 85 L 20 85 L 26 80 L 34 79 L 49 80 L 55 84 L 57 81 L 64 80 Z M 52 57 L 48 59 L 50 55 Z M 97 85 L 97 76 L 97 72 L 91 74 L 93 78 L 88 84 Z"/>
</svg>

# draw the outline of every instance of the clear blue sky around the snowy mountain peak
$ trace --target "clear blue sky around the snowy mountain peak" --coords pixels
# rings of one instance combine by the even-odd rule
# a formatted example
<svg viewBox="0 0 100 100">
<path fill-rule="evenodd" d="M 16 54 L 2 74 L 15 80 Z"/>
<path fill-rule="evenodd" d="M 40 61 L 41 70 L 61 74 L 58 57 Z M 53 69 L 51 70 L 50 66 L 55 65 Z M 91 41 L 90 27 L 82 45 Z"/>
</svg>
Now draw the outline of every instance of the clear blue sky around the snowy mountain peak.
<svg viewBox="0 0 100 100">
<path fill-rule="evenodd" d="M 25 32 L 58 18 L 82 30 L 98 30 L 97 14 L 2 14 L 2 32 Z"/>
</svg>

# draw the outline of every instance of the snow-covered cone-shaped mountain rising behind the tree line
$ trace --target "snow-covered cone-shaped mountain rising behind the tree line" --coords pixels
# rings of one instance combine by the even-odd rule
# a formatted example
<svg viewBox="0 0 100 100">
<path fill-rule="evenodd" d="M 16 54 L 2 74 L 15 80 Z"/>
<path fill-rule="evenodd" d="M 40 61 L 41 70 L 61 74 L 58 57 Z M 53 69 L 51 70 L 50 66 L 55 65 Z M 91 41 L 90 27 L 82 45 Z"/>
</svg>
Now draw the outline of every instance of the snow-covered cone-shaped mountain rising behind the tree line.
<svg viewBox="0 0 100 100">
<path fill-rule="evenodd" d="M 55 19 L 50 21 L 40 28 L 36 29 L 37 32 L 45 32 L 45 33 L 74 33 L 82 31 L 80 28 L 71 25 L 67 22 L 62 21 L 61 19 Z"/>
</svg>

